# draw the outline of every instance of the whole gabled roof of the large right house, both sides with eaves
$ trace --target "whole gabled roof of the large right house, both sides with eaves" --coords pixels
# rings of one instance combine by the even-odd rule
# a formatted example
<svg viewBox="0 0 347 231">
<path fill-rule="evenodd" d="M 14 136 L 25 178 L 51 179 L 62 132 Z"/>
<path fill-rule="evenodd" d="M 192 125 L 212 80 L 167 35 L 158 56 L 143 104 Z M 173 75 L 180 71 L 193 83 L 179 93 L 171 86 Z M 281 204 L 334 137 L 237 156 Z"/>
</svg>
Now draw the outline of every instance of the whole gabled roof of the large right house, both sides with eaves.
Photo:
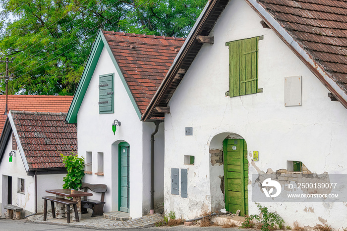
<svg viewBox="0 0 347 231">
<path fill-rule="evenodd" d="M 142 116 L 167 106 L 229 0 L 210 0 L 190 32 L 163 83 Z M 331 93 L 347 108 L 347 2 L 341 0 L 246 0 Z M 180 71 L 178 71 L 180 70 Z"/>
</svg>

